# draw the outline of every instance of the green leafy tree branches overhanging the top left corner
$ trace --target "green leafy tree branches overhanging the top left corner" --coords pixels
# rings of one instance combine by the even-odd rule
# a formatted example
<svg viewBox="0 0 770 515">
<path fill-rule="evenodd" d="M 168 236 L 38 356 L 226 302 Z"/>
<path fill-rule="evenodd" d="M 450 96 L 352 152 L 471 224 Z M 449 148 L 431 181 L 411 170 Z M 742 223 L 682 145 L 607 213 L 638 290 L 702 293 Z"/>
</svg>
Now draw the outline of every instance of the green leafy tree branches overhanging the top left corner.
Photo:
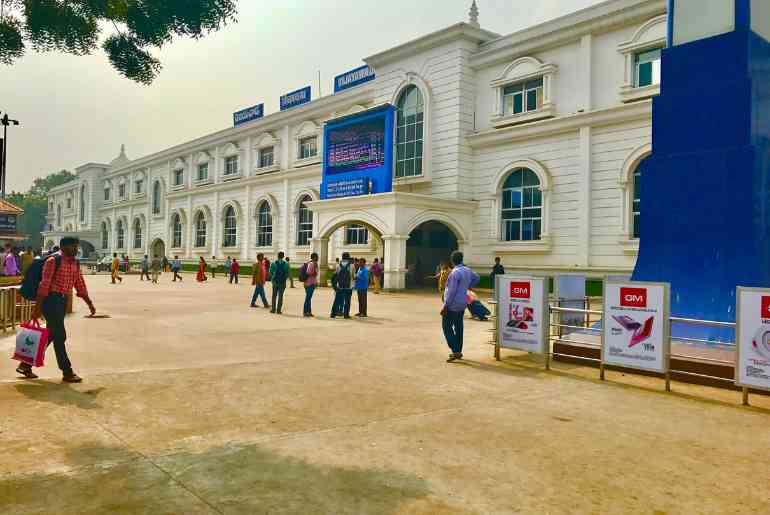
<svg viewBox="0 0 770 515">
<path fill-rule="evenodd" d="M 0 63 L 27 45 L 37 51 L 86 55 L 101 43 L 125 77 L 150 84 L 161 69 L 148 48 L 174 36 L 198 39 L 235 21 L 235 0 L 0 0 Z"/>
</svg>

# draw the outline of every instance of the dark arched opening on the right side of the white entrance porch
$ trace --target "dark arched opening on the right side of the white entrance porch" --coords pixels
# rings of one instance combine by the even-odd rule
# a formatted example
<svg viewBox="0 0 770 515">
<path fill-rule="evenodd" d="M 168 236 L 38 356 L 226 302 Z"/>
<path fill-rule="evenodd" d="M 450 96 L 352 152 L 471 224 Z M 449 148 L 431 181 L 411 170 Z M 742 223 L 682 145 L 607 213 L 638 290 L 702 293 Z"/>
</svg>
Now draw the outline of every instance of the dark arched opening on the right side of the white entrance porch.
<svg viewBox="0 0 770 515">
<path fill-rule="evenodd" d="M 458 248 L 457 236 L 447 225 L 431 220 L 417 226 L 406 240 L 407 288 L 434 286 L 435 279 L 429 277 Z"/>
</svg>

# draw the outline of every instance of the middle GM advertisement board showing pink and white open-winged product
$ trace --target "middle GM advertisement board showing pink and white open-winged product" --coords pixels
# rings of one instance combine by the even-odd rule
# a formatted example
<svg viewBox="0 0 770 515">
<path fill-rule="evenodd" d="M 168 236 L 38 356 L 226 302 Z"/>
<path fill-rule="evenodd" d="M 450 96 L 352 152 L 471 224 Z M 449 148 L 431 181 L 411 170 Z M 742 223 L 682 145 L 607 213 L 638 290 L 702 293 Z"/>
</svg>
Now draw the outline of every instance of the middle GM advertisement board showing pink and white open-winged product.
<svg viewBox="0 0 770 515">
<path fill-rule="evenodd" d="M 670 347 L 667 283 L 604 283 L 602 362 L 665 373 Z"/>
</svg>

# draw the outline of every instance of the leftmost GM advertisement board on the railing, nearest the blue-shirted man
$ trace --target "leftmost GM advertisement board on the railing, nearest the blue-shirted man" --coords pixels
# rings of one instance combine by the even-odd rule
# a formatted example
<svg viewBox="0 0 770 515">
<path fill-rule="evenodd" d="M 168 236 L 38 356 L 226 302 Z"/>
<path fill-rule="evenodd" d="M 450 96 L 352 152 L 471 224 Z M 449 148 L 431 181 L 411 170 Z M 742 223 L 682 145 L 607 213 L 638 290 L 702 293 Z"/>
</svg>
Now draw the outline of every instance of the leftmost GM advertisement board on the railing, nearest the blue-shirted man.
<svg viewBox="0 0 770 515">
<path fill-rule="evenodd" d="M 542 277 L 495 276 L 500 347 L 536 354 L 548 348 L 548 290 Z"/>
</svg>

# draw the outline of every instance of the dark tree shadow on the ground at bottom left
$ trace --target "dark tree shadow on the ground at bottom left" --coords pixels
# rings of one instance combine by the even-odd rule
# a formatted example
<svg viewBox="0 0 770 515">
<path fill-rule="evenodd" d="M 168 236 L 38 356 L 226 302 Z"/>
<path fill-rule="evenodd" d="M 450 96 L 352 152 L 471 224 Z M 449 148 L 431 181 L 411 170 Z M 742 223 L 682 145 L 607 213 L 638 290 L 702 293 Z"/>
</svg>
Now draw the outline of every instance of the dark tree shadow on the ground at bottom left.
<svg viewBox="0 0 770 515">
<path fill-rule="evenodd" d="M 416 476 L 311 464 L 256 445 L 141 457 L 74 448 L 68 473 L 0 480 L 0 513 L 458 513 Z M 97 458 L 84 465 L 84 457 Z M 459 508 L 459 509 L 458 509 Z"/>
</svg>

